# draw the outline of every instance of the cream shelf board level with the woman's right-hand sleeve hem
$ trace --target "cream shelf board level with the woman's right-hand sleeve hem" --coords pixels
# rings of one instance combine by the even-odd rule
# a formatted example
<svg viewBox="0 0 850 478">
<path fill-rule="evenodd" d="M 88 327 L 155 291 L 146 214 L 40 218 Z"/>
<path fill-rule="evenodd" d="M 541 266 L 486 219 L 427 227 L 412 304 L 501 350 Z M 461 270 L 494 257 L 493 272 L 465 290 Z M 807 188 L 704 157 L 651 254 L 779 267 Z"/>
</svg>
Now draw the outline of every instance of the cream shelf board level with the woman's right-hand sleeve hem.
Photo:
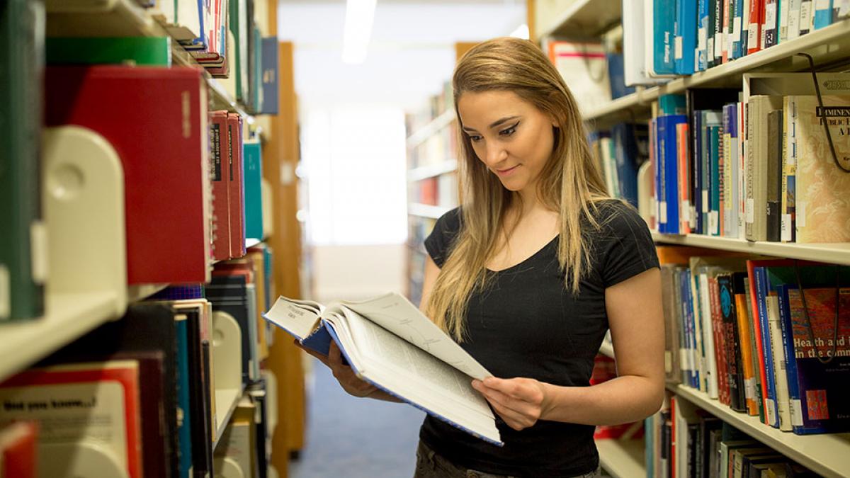
<svg viewBox="0 0 850 478">
<path fill-rule="evenodd" d="M 689 234 L 674 236 L 652 233 L 655 242 L 693 246 L 696 248 L 721 249 L 741 253 L 762 254 L 788 259 L 803 259 L 850 265 L 850 242 L 835 244 L 797 244 L 795 242 L 750 242 L 729 237 L 713 237 Z"/>
</svg>

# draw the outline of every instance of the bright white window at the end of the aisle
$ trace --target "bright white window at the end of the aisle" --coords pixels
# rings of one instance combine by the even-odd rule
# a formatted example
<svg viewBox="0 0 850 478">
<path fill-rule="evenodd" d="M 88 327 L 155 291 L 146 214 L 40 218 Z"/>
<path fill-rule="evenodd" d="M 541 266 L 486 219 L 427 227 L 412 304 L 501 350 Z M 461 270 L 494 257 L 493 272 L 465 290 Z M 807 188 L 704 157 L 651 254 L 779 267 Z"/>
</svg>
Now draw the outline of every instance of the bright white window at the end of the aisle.
<svg viewBox="0 0 850 478">
<path fill-rule="evenodd" d="M 304 118 L 309 242 L 405 242 L 404 113 L 391 107 L 345 106 L 317 108 Z"/>
</svg>

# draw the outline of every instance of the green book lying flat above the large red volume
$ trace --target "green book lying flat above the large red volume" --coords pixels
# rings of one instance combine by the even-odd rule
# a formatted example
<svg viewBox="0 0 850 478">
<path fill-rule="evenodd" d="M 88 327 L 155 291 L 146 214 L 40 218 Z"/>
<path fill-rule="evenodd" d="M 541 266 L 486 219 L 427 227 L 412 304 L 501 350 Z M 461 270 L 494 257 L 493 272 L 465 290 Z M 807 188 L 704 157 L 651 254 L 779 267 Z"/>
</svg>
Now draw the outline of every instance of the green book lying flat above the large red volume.
<svg viewBox="0 0 850 478">
<path fill-rule="evenodd" d="M 48 38 L 51 65 L 171 66 L 171 37 Z"/>
</svg>

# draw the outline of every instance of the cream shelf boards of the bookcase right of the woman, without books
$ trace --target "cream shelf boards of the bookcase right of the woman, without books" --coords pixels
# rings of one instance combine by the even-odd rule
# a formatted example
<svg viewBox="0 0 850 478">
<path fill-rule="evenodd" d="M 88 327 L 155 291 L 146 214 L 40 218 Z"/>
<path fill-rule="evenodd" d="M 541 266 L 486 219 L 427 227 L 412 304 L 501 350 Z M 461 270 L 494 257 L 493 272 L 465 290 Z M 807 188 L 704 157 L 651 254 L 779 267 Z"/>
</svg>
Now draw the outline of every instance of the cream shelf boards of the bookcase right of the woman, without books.
<svg viewBox="0 0 850 478">
<path fill-rule="evenodd" d="M 565 6 L 564 6 L 565 5 Z M 534 40 L 543 37 L 601 37 L 606 29 L 621 20 L 621 3 L 594 0 L 536 0 L 530 9 L 530 25 L 536 26 Z M 802 37 L 764 48 L 754 54 L 699 71 L 689 77 L 677 77 L 655 87 L 637 87 L 635 93 L 595 105 L 585 115 L 588 128 L 608 127 L 616 122 L 649 118 L 653 103 L 663 94 L 681 94 L 689 88 L 740 88 L 741 80 L 749 72 L 808 71 L 808 60 L 797 55 L 811 55 L 818 71 L 841 71 L 850 63 L 850 19 L 839 20 L 830 26 L 810 31 Z M 845 66 L 846 68 L 846 66 Z M 805 259 L 837 265 L 850 265 L 850 244 L 796 244 L 781 242 L 748 242 L 740 239 L 700 235 L 666 235 L 653 233 L 658 244 L 677 244 L 700 248 L 751 253 L 777 258 Z M 614 350 L 605 342 L 599 352 L 614 357 Z M 850 434 L 793 435 L 765 424 L 757 417 L 736 413 L 710 399 L 705 393 L 684 385 L 670 385 L 668 389 L 682 399 L 693 403 L 708 413 L 721 418 L 737 429 L 762 441 L 819 475 L 850 476 Z M 643 444 L 631 452 L 617 441 L 598 441 L 600 461 L 604 469 L 615 476 L 624 476 L 622 469 L 630 469 L 628 476 L 646 475 L 643 464 Z M 633 467 L 633 468 L 629 468 Z"/>
</svg>

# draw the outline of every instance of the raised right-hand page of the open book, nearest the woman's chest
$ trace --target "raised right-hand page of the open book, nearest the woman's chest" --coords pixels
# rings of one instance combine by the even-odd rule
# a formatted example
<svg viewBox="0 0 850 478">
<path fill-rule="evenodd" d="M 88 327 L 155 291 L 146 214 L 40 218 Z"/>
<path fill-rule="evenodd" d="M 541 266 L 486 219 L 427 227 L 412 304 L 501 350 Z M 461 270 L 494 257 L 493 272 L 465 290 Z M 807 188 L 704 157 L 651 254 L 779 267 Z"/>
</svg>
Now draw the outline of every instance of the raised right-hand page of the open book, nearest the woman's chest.
<svg viewBox="0 0 850 478">
<path fill-rule="evenodd" d="M 388 293 L 364 302 L 343 302 L 341 307 L 368 317 L 371 322 L 472 378 L 483 380 L 492 376 L 492 373 L 487 372 L 466 350 L 399 293 Z"/>
</svg>

